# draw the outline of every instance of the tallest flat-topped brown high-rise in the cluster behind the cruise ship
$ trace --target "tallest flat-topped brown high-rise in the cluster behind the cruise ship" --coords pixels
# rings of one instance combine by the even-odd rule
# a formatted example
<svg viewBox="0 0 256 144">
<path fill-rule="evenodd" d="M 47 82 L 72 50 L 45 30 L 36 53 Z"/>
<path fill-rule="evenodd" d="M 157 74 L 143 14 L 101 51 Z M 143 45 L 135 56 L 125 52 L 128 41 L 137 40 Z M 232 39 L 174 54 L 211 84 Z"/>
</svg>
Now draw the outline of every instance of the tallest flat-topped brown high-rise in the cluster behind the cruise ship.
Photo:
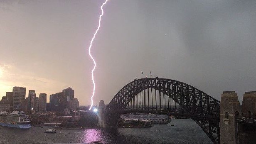
<svg viewBox="0 0 256 144">
<path fill-rule="evenodd" d="M 21 100 L 25 100 L 26 88 L 13 87 L 13 110 L 21 110 Z"/>
</svg>

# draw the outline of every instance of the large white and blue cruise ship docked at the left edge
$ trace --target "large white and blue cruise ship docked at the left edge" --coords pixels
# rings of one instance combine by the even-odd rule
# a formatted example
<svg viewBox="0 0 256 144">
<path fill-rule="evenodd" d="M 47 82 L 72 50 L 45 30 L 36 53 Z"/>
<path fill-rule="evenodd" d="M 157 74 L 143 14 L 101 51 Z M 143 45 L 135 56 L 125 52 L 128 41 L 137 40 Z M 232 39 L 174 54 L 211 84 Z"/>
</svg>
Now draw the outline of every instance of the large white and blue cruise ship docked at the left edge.
<svg viewBox="0 0 256 144">
<path fill-rule="evenodd" d="M 30 119 L 23 111 L 14 111 L 8 113 L 0 112 L 0 125 L 5 127 L 15 127 L 21 129 L 30 128 Z"/>
</svg>

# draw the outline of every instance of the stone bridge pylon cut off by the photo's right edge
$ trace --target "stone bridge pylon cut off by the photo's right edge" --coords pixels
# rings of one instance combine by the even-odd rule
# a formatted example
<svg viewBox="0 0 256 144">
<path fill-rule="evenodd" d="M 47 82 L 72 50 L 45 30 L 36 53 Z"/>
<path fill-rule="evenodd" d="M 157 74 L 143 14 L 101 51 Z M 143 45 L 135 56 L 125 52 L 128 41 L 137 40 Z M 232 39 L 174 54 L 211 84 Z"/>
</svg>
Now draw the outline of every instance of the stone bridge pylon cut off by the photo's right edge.
<svg viewBox="0 0 256 144">
<path fill-rule="evenodd" d="M 256 91 L 245 92 L 242 102 L 244 117 L 256 119 Z"/>
</svg>

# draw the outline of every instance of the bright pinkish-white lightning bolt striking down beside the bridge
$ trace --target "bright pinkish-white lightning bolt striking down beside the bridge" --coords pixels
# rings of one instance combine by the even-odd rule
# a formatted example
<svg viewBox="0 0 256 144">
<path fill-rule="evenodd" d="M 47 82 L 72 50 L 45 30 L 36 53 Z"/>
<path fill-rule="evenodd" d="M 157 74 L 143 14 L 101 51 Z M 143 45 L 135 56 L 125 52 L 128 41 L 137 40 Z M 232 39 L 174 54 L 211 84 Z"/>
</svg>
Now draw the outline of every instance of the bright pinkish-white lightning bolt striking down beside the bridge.
<svg viewBox="0 0 256 144">
<path fill-rule="evenodd" d="M 94 61 L 94 68 L 92 69 L 91 71 L 91 79 L 92 79 L 92 82 L 94 83 L 94 91 L 91 95 L 91 107 L 93 106 L 93 98 L 94 98 L 94 94 L 95 94 L 95 81 L 94 81 L 94 70 L 96 68 L 96 61 L 94 60 L 93 56 L 91 55 L 91 46 L 92 46 L 92 43 L 94 41 L 94 38 L 96 36 L 96 34 L 98 33 L 98 30 L 100 29 L 101 27 L 101 17 L 103 16 L 104 12 L 103 12 L 103 6 L 108 2 L 108 0 L 105 0 L 105 2 L 101 5 L 101 15 L 99 17 L 99 20 L 98 20 L 98 28 L 96 29 L 96 32 L 94 33 L 94 37 L 91 39 L 91 43 L 90 43 L 90 46 L 89 46 L 89 55 L 92 59 L 92 61 Z M 91 107 L 89 108 L 89 110 L 91 110 Z"/>
</svg>

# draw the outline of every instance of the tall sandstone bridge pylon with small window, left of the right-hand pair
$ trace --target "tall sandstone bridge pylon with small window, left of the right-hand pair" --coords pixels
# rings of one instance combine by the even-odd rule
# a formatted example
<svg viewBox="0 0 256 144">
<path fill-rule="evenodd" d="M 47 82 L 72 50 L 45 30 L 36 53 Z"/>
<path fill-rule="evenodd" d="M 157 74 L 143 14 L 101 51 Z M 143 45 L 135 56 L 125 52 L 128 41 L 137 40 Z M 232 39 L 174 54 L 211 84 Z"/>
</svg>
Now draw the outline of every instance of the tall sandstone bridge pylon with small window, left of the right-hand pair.
<svg viewBox="0 0 256 144">
<path fill-rule="evenodd" d="M 220 101 L 220 143 L 238 144 L 236 117 L 240 113 L 240 103 L 234 91 L 223 92 Z"/>
</svg>

